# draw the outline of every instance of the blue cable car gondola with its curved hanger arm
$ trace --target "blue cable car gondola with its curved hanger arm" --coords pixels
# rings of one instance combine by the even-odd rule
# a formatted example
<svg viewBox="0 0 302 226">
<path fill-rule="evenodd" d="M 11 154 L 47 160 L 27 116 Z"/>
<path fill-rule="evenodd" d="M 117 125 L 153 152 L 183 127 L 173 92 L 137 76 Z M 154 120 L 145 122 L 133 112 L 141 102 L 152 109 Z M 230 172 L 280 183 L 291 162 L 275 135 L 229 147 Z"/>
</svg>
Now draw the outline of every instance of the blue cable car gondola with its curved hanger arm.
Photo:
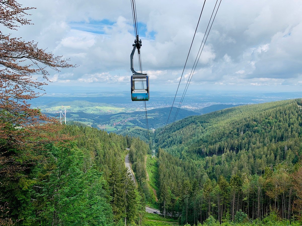
<svg viewBox="0 0 302 226">
<path fill-rule="evenodd" d="M 131 71 L 133 75 L 131 76 L 131 100 L 132 101 L 146 101 L 149 100 L 149 76 L 147 74 L 142 74 L 134 71 L 133 69 L 133 55 L 135 49 L 137 49 L 138 54 L 140 54 L 140 47 L 142 46 L 142 40 L 134 40 L 133 50 L 130 55 Z"/>
</svg>

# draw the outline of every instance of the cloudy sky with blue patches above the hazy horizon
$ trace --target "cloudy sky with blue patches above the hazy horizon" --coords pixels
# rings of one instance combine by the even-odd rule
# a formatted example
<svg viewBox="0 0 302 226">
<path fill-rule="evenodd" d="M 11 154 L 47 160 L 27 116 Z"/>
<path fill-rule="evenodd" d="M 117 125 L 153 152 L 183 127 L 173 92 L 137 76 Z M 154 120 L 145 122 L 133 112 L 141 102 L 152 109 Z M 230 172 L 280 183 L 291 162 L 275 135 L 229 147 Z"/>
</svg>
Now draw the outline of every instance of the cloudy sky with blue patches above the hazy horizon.
<svg viewBox="0 0 302 226">
<path fill-rule="evenodd" d="M 36 8 L 27 16 L 34 25 L 9 33 L 35 40 L 40 48 L 70 58 L 78 66 L 50 70 L 49 86 L 130 90 L 130 53 L 135 39 L 131 1 L 18 2 Z M 149 75 L 150 92 L 176 91 L 204 4 L 180 83 L 183 91 L 215 3 L 136 1 L 142 68 Z M 300 0 L 222 0 L 188 90 L 301 91 L 301 37 Z M 134 70 L 139 71 L 137 53 L 134 56 Z"/>
</svg>

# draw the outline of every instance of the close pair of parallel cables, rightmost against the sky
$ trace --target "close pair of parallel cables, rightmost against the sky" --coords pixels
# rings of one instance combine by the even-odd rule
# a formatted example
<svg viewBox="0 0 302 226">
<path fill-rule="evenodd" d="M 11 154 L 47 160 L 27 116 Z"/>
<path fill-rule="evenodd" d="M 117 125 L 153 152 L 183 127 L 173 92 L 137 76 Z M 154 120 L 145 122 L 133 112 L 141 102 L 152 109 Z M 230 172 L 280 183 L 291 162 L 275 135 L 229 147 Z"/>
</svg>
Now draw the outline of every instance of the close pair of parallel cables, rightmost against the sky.
<svg viewBox="0 0 302 226">
<path fill-rule="evenodd" d="M 176 110 L 176 113 L 175 113 L 175 116 L 174 116 L 172 125 L 173 125 L 173 123 L 174 123 L 175 120 L 176 120 L 176 117 L 177 117 L 177 115 L 178 115 L 178 111 L 179 111 L 179 109 L 180 109 L 180 107 L 181 107 L 181 105 L 182 105 L 182 102 L 183 102 L 184 98 L 185 98 L 185 93 L 186 93 L 187 90 L 188 90 L 188 86 L 189 86 L 189 84 L 190 84 L 190 82 L 191 82 L 191 79 L 192 79 L 192 76 L 193 76 L 193 74 L 194 74 L 196 65 L 197 65 L 197 63 L 198 63 L 198 61 L 199 61 L 201 52 L 202 52 L 202 50 L 204 49 L 204 45 L 203 45 L 202 49 L 201 49 L 201 46 L 202 46 L 202 43 L 204 42 L 204 38 L 205 38 L 205 36 L 206 36 L 206 34 L 207 34 L 207 30 L 208 30 L 209 25 L 210 25 L 210 23 L 211 23 L 211 20 L 212 20 L 212 17 L 213 17 L 213 14 L 214 14 L 214 11 L 215 11 L 217 2 L 218 2 L 218 0 L 216 1 L 215 6 L 214 6 L 214 9 L 213 9 L 213 11 L 212 11 L 211 18 L 210 18 L 209 23 L 208 23 L 208 25 L 207 25 L 207 29 L 206 29 L 206 31 L 205 31 L 205 33 L 204 33 L 204 37 L 203 37 L 203 39 L 202 39 L 202 41 L 201 41 L 201 44 L 200 44 L 198 53 L 197 53 L 197 55 L 196 55 L 196 58 L 195 58 L 195 61 L 194 61 L 194 64 L 193 64 L 191 73 L 190 73 L 190 75 L 189 75 L 189 78 L 188 78 L 188 81 L 187 81 L 187 84 L 186 84 L 186 87 L 185 87 L 185 89 L 184 89 L 184 92 L 182 93 L 182 98 L 180 99 L 180 102 L 179 102 L 179 104 L 178 104 L 178 108 L 177 108 L 177 110 Z M 220 2 L 221 2 L 221 1 L 220 1 Z M 219 5 L 220 5 L 220 3 L 219 3 Z M 217 11 L 218 11 L 218 8 L 219 8 L 219 6 L 217 7 Z M 216 11 L 216 13 L 217 13 L 217 11 Z M 216 16 L 216 14 L 215 14 L 215 16 Z M 213 22 L 214 22 L 215 16 L 214 16 L 214 18 L 213 18 Z M 213 22 L 212 22 L 212 24 L 213 24 Z M 211 27 L 212 27 L 212 25 L 211 25 Z M 210 30 L 209 30 L 209 32 L 210 32 Z M 208 35 L 209 35 L 209 32 L 208 32 Z M 206 39 L 206 40 L 207 40 L 207 39 Z M 205 43 L 204 43 L 204 44 L 205 44 Z M 201 51 L 200 51 L 200 49 L 201 49 Z M 198 55 L 199 55 L 199 57 L 198 57 Z M 196 65 L 195 65 L 195 64 L 196 64 Z M 195 68 L 194 68 L 194 66 L 195 66 Z M 194 70 L 194 71 L 193 71 L 193 70 Z M 172 125 L 171 125 L 171 126 L 172 126 Z"/>
</svg>

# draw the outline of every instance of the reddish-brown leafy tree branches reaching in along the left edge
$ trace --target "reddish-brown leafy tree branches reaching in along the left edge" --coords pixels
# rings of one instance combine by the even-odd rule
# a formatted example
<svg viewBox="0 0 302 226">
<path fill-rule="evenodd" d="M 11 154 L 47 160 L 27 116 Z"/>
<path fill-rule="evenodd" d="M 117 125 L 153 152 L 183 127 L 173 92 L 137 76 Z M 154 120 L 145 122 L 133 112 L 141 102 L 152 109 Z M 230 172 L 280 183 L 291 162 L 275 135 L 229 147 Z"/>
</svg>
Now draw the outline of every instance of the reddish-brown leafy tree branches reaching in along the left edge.
<svg viewBox="0 0 302 226">
<path fill-rule="evenodd" d="M 11 30 L 31 24 L 25 18 L 31 9 L 15 0 L 0 0 L 0 24 Z M 32 109 L 27 100 L 43 95 L 37 90 L 44 91 L 49 69 L 74 67 L 68 61 L 40 49 L 35 41 L 26 42 L 0 31 L 0 139 L 21 144 L 62 140 L 47 135 L 60 129 L 59 125 L 51 125 L 58 121 Z"/>
</svg>

